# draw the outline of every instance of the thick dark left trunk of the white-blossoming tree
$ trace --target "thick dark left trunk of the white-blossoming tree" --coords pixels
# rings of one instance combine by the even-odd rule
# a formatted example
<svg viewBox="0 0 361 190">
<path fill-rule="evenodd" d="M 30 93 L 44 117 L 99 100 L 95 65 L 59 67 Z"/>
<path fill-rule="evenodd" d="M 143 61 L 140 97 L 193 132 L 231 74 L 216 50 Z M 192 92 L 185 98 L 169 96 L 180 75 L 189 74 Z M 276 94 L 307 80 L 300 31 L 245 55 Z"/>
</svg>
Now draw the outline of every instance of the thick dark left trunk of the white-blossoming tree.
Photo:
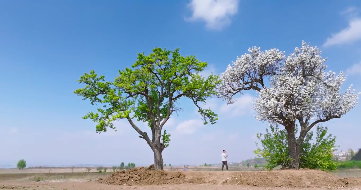
<svg viewBox="0 0 361 190">
<path fill-rule="evenodd" d="M 298 148 L 295 136 L 295 123 L 290 123 L 286 127 L 288 152 L 292 158 L 290 169 L 298 169 L 300 161 L 300 148 Z"/>
</svg>

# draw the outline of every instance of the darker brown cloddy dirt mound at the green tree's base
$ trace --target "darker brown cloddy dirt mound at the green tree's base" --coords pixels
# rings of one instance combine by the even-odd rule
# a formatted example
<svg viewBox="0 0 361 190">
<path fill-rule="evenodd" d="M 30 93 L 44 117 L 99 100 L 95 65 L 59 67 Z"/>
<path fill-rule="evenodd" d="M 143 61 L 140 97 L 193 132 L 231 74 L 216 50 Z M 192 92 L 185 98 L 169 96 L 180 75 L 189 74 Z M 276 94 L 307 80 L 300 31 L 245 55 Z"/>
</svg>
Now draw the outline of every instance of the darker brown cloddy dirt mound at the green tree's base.
<svg viewBox="0 0 361 190">
<path fill-rule="evenodd" d="M 186 182 L 186 175 L 181 172 L 166 173 L 164 170 L 153 170 L 153 165 L 151 165 L 149 168 L 141 167 L 118 171 L 98 181 L 112 185 L 183 184 Z"/>
</svg>

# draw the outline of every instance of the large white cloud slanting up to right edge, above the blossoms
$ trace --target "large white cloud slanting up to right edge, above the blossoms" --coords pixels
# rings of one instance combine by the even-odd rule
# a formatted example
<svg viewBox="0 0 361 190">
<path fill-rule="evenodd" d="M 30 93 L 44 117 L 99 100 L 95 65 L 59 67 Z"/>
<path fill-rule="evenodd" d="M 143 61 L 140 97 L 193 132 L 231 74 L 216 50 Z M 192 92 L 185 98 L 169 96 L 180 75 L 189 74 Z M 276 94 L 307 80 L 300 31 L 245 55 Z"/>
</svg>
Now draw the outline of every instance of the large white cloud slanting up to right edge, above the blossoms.
<svg viewBox="0 0 361 190">
<path fill-rule="evenodd" d="M 349 26 L 334 33 L 328 37 L 323 46 L 328 47 L 340 44 L 352 44 L 355 41 L 361 40 L 361 18 L 353 18 L 349 21 Z"/>
</svg>

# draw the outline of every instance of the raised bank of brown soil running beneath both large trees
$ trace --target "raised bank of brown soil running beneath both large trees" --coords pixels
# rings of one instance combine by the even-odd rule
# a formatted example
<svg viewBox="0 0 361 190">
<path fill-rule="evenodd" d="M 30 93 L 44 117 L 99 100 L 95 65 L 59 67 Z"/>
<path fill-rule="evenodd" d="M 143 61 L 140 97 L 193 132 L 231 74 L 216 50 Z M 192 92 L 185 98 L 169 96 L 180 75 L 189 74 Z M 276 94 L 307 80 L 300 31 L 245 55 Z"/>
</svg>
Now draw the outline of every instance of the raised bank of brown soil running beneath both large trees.
<svg viewBox="0 0 361 190">
<path fill-rule="evenodd" d="M 115 172 L 109 177 L 100 178 L 98 182 L 110 185 L 221 184 L 296 188 L 361 186 L 361 178 L 339 178 L 330 173 L 313 170 L 165 172 L 152 170 L 151 167 Z"/>
</svg>

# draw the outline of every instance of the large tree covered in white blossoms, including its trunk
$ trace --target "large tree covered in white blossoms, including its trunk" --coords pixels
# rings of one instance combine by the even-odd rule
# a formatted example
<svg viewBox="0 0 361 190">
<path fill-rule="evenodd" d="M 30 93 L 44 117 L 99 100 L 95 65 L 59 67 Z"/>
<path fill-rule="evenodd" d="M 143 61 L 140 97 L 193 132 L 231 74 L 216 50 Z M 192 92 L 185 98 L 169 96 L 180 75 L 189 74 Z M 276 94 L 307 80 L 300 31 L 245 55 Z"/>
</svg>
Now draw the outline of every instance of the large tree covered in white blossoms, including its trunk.
<svg viewBox="0 0 361 190">
<path fill-rule="evenodd" d="M 237 56 L 222 74 L 219 97 L 234 103 L 233 96 L 247 90 L 258 91 L 253 109 L 262 122 L 279 123 L 286 128 L 292 163 L 298 169 L 300 149 L 307 132 L 316 124 L 341 118 L 358 103 L 360 93 L 352 85 L 340 93 L 345 82 L 343 72 L 325 72 L 327 58 L 321 51 L 302 41 L 301 48 L 286 56 L 284 51 L 260 47 L 248 49 L 249 53 Z M 267 80 L 269 82 L 267 82 Z M 296 138 L 295 125 L 300 125 Z"/>
</svg>

